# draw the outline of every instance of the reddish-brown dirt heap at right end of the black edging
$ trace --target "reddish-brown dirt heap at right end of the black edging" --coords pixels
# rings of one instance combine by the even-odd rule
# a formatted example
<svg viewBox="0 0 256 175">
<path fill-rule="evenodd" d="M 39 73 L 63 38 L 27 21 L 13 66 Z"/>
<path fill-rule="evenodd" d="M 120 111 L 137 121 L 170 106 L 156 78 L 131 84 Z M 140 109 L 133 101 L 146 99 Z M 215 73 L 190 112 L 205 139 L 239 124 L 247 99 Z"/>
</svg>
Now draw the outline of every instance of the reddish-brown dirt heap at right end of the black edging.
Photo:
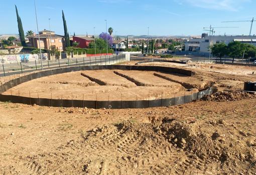
<svg viewBox="0 0 256 175">
<path fill-rule="evenodd" d="M 241 92 L 241 91 L 222 91 L 222 92 L 216 92 L 212 95 L 204 96 L 201 100 L 203 101 L 237 101 L 242 99 L 253 99 L 256 98 L 256 95 Z"/>
</svg>

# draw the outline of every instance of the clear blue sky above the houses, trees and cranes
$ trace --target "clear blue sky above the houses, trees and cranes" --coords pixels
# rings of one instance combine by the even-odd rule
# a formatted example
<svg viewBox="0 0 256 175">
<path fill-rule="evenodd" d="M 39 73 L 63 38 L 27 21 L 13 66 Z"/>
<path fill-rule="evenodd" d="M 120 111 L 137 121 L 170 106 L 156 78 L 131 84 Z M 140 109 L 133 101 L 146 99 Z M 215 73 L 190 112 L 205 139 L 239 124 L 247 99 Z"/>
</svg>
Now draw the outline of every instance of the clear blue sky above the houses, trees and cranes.
<svg viewBox="0 0 256 175">
<path fill-rule="evenodd" d="M 64 11 L 68 32 L 76 35 L 99 34 L 107 26 L 117 35 L 200 35 L 203 27 L 239 27 L 216 29 L 217 35 L 248 35 L 250 23 L 221 23 L 251 20 L 256 17 L 255 0 L 36 0 L 39 30 L 51 28 L 63 35 Z M 1 0 L 0 34 L 17 34 L 15 5 L 25 33 L 36 31 L 33 0 Z M 256 34 L 256 23 L 252 29 Z"/>
</svg>

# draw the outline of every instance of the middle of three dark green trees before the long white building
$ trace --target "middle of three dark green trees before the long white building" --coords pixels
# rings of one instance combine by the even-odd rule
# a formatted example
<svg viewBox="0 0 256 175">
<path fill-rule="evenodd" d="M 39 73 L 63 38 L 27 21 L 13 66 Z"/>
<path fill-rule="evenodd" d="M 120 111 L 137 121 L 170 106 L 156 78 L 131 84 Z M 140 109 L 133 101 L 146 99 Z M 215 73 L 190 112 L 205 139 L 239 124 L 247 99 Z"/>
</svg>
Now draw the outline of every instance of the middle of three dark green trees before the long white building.
<svg viewBox="0 0 256 175">
<path fill-rule="evenodd" d="M 234 41 L 227 45 L 228 55 L 233 59 L 232 63 L 234 62 L 235 58 L 239 58 L 242 56 L 243 47 L 240 42 Z"/>
</svg>

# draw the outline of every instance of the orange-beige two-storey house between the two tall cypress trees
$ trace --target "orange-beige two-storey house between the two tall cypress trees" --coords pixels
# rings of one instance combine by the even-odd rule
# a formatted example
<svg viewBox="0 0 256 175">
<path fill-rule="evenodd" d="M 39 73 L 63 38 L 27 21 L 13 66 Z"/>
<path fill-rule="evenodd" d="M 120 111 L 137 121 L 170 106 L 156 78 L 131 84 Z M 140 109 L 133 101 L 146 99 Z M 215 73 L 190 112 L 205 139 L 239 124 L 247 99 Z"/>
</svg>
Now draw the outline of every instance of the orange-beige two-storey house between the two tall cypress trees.
<svg viewBox="0 0 256 175">
<path fill-rule="evenodd" d="M 59 51 L 63 51 L 65 48 L 64 37 L 61 35 L 56 35 L 55 32 L 44 30 L 39 32 L 39 37 L 41 49 L 55 48 Z M 33 36 L 29 36 L 28 39 L 28 46 L 39 49 L 38 35 L 34 34 Z"/>
</svg>

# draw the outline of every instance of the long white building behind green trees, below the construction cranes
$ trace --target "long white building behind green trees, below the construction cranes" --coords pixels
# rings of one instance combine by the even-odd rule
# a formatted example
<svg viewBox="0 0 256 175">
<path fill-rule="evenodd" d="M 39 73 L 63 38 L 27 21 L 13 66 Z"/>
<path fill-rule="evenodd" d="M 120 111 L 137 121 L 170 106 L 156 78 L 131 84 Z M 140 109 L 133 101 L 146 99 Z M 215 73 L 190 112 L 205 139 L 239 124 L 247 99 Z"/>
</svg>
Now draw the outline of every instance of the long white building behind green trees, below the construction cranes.
<svg viewBox="0 0 256 175">
<path fill-rule="evenodd" d="M 209 46 L 238 41 L 256 46 L 256 36 L 206 36 L 200 39 L 191 39 L 185 43 L 185 51 L 193 51 L 200 53 L 209 53 Z"/>
</svg>

